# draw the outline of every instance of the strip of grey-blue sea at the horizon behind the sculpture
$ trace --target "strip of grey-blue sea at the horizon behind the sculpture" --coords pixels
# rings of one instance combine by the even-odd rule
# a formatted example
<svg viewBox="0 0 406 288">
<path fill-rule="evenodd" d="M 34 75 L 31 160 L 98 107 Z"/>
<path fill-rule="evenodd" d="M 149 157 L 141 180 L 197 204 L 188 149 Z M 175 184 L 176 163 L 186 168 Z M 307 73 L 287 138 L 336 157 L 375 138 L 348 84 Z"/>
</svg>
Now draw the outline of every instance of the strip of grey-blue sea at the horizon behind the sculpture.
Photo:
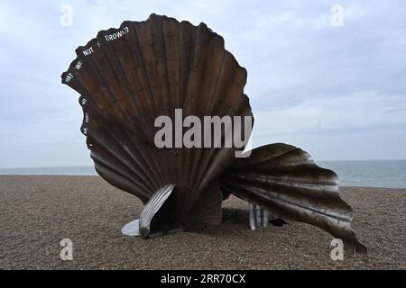
<svg viewBox="0 0 406 288">
<path fill-rule="evenodd" d="M 341 186 L 406 188 L 406 160 L 318 161 Z M 97 175 L 94 166 L 0 168 L 0 175 Z"/>
</svg>

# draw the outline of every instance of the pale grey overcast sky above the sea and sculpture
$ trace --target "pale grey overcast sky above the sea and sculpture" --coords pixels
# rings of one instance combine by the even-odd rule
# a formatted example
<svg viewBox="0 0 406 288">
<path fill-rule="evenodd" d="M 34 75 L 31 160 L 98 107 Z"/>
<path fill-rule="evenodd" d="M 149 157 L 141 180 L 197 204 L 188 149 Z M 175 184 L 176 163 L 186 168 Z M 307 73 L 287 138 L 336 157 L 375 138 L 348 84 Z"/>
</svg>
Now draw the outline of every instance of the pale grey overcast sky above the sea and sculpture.
<svg viewBox="0 0 406 288">
<path fill-rule="evenodd" d="M 60 25 L 62 4 L 72 26 Z M 334 4 L 343 26 L 331 24 Z M 92 165 L 79 95 L 60 74 L 97 31 L 152 13 L 225 38 L 248 70 L 254 147 L 406 158 L 405 1 L 1 1 L 0 167 Z"/>
</svg>

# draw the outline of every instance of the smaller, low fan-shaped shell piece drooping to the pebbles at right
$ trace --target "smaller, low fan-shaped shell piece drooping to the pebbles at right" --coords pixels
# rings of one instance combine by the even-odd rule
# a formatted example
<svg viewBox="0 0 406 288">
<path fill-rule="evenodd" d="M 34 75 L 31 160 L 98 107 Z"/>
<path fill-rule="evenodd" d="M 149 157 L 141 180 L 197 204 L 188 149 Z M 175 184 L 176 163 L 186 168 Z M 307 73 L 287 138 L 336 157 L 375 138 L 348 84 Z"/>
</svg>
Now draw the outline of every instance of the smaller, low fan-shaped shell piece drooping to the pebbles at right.
<svg viewBox="0 0 406 288">
<path fill-rule="evenodd" d="M 338 177 L 317 166 L 309 153 L 291 145 L 269 144 L 236 158 L 223 175 L 221 188 L 263 205 L 284 220 L 306 222 L 324 229 L 364 253 L 351 229 L 350 205 L 338 194 Z"/>
</svg>

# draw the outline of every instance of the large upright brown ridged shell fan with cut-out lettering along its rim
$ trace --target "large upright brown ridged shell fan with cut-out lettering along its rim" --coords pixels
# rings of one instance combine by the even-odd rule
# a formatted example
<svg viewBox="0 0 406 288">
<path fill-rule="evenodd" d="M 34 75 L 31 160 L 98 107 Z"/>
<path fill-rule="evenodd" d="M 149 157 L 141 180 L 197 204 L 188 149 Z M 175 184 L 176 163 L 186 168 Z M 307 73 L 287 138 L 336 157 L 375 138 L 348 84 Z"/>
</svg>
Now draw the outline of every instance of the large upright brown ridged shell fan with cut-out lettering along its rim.
<svg viewBox="0 0 406 288">
<path fill-rule="evenodd" d="M 168 217 L 175 225 L 219 223 L 218 176 L 235 148 L 157 148 L 154 121 L 175 109 L 183 118 L 252 115 L 245 68 L 206 24 L 152 14 L 100 31 L 77 50 L 62 83 L 81 96 L 82 132 L 97 173 L 143 202 L 176 184 Z"/>
</svg>

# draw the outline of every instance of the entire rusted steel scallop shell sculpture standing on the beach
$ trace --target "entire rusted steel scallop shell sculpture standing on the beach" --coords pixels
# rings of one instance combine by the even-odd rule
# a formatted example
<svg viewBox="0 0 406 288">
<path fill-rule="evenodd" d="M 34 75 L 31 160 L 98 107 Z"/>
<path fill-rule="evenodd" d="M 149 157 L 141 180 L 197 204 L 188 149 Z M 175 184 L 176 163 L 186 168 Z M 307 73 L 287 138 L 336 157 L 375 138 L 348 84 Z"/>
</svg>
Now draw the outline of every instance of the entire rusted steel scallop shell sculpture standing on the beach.
<svg viewBox="0 0 406 288">
<path fill-rule="evenodd" d="M 337 175 L 300 148 L 272 144 L 236 158 L 235 145 L 156 147 L 154 121 L 161 115 L 176 121 L 175 109 L 183 118 L 252 116 L 246 70 L 206 24 L 152 14 L 100 31 L 76 52 L 62 83 L 81 94 L 81 130 L 97 173 L 145 204 L 124 230 L 136 226 L 148 238 L 195 222 L 219 224 L 221 203 L 233 193 L 364 249 L 350 227 L 351 208 L 338 195 Z"/>
</svg>

